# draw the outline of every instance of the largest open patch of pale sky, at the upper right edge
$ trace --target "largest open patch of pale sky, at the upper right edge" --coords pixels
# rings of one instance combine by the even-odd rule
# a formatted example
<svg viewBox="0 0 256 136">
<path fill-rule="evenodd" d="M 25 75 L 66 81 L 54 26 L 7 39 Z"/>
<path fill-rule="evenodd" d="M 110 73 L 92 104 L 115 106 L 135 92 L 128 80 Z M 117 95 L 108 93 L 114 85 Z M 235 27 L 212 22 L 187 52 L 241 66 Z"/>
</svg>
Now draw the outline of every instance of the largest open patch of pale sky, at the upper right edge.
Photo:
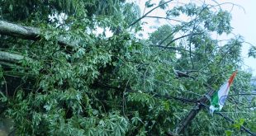
<svg viewBox="0 0 256 136">
<path fill-rule="evenodd" d="M 230 0 L 227 2 L 234 2 L 244 7 L 242 9 L 235 7 L 232 13 L 231 26 L 234 27 L 235 34 L 242 35 L 246 42 L 256 46 L 256 1 L 255 0 Z M 256 59 L 248 58 L 248 50 L 250 45 L 243 45 L 242 56 L 244 58 L 244 69 L 252 68 L 254 76 L 256 76 Z"/>
</svg>

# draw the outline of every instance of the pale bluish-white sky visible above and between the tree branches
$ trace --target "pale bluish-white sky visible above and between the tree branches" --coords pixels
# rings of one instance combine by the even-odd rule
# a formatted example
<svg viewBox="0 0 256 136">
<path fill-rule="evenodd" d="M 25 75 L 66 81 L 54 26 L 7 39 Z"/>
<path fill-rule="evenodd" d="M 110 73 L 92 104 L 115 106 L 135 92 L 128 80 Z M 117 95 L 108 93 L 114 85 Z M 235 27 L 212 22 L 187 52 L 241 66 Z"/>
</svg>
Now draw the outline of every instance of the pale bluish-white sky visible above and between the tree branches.
<svg viewBox="0 0 256 136">
<path fill-rule="evenodd" d="M 142 13 L 144 12 L 145 2 L 147 0 L 138 0 L 136 1 L 141 8 Z M 190 0 L 192 1 L 192 0 Z M 213 0 L 205 0 L 206 2 L 213 2 Z M 159 0 L 152 0 L 152 2 L 158 3 Z M 189 2 L 189 0 L 177 0 L 173 2 Z M 193 2 L 199 2 L 199 0 L 194 0 Z M 232 4 L 225 4 L 222 6 L 223 9 L 230 11 L 232 15 L 231 26 L 234 28 L 233 33 L 236 35 L 242 35 L 244 40 L 251 45 L 256 46 L 256 0 L 216 0 L 216 2 L 230 2 L 234 3 L 237 6 L 232 7 Z M 171 4 L 172 5 L 172 4 Z M 174 4 L 173 4 L 174 5 Z M 147 11 L 145 11 L 147 12 Z M 162 10 L 158 10 L 149 14 L 150 16 L 164 16 L 165 13 Z M 155 19 L 146 18 L 143 21 L 148 22 L 145 25 L 143 33 L 144 36 L 147 36 L 147 33 L 153 32 L 155 29 L 152 29 L 152 26 L 159 24 L 164 24 L 164 20 L 156 21 Z M 218 39 L 230 39 L 234 35 L 221 35 L 218 36 Z M 248 57 L 248 50 L 251 46 L 247 43 L 243 44 L 242 47 L 242 58 L 244 63 L 242 68 L 250 73 L 253 73 L 254 77 L 256 76 L 256 59 Z"/>
</svg>

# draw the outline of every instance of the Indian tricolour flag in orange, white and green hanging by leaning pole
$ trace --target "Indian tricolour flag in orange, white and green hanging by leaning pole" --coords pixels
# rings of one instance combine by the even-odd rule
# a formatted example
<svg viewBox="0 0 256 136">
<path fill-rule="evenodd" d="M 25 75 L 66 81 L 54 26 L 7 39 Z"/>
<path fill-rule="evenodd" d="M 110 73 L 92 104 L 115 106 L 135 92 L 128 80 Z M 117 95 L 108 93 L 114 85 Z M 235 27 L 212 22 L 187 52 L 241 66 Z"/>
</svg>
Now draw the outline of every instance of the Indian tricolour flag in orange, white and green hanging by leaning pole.
<svg viewBox="0 0 256 136">
<path fill-rule="evenodd" d="M 211 97 L 211 106 L 210 106 L 211 115 L 213 114 L 214 110 L 220 111 L 224 106 L 225 99 L 227 98 L 230 91 L 230 85 L 232 84 L 236 73 L 237 71 L 235 71 L 235 73 L 231 75 L 230 79 L 220 87 L 220 90 L 215 92 Z"/>
</svg>

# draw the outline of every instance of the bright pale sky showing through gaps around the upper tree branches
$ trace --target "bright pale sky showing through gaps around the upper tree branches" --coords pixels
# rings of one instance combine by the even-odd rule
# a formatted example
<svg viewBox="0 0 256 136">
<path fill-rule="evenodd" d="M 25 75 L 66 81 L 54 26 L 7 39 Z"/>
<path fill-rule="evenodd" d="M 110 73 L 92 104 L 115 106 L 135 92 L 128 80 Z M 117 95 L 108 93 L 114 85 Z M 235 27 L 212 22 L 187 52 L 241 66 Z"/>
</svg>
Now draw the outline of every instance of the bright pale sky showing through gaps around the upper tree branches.
<svg viewBox="0 0 256 136">
<path fill-rule="evenodd" d="M 145 8 L 145 2 L 146 0 L 140 0 L 138 1 L 140 3 L 140 9 L 144 9 Z M 157 0 L 152 1 L 152 2 L 158 2 Z M 189 1 L 178 1 L 179 3 L 186 3 Z M 199 1 L 198 1 L 199 2 Z M 202 2 L 202 1 L 200 1 Z M 254 12 L 256 12 L 254 10 L 254 6 L 256 3 L 254 2 L 254 0 L 249 0 L 247 2 L 242 2 L 239 0 L 235 0 L 235 1 L 212 1 L 212 0 L 207 0 L 205 1 L 206 3 L 219 3 L 220 7 L 229 11 L 232 14 L 232 20 L 231 20 L 231 26 L 233 26 L 234 30 L 233 32 L 236 35 L 243 35 L 244 40 L 246 40 L 249 43 L 244 43 L 243 45 L 243 49 L 242 49 L 242 56 L 244 59 L 244 69 L 247 69 L 249 71 L 252 70 L 252 73 L 256 74 L 256 64 L 255 59 L 253 57 L 249 57 L 249 49 L 251 46 L 255 46 L 256 45 L 256 40 L 254 38 L 254 29 L 250 29 L 250 28 L 254 28 L 254 24 L 256 23 L 255 17 L 254 17 Z M 223 4 L 222 4 L 223 3 Z M 172 5 L 170 5 L 170 8 L 172 7 Z M 172 19 L 170 21 L 164 21 L 164 20 L 159 20 L 159 24 L 155 23 L 157 18 L 160 17 L 165 17 L 165 13 L 162 12 L 161 10 L 157 10 L 154 11 L 153 13 L 149 14 L 149 16 L 156 16 L 155 19 L 145 19 L 143 21 L 148 22 L 147 25 L 144 26 L 144 29 L 146 32 L 143 32 L 143 34 L 146 36 L 147 32 L 152 32 L 155 29 L 150 28 L 149 26 L 156 26 L 156 28 L 158 26 L 161 26 L 163 24 L 177 24 L 177 21 L 180 20 L 187 20 L 187 18 L 172 18 L 174 21 L 172 21 Z M 246 24 L 246 25 L 244 25 Z M 248 27 L 244 27 L 244 26 L 248 26 Z M 215 37 L 218 40 L 225 40 L 225 39 L 229 39 L 231 38 L 233 35 L 215 35 Z M 225 42 L 222 42 L 222 45 L 225 44 Z"/>
</svg>

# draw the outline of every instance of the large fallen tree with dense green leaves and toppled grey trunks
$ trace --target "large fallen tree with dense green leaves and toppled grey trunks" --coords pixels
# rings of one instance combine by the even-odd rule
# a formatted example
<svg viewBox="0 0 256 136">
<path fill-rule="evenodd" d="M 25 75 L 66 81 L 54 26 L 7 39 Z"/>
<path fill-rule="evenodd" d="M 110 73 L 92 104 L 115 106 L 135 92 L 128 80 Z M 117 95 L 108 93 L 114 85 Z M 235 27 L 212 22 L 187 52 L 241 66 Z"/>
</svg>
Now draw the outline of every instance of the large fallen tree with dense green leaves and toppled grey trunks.
<svg viewBox="0 0 256 136">
<path fill-rule="evenodd" d="M 242 70 L 220 113 L 229 120 L 201 110 L 176 131 L 198 102 L 209 105 L 197 100 L 242 66 L 239 35 L 225 45 L 211 37 L 232 31 L 222 3 L 147 1 L 142 15 L 138 5 L 121 0 L 2 0 L 0 5 L 0 111 L 15 121 L 16 134 L 256 131 L 250 110 L 255 100 L 247 95 L 250 74 Z M 166 16 L 150 16 L 155 10 Z M 171 25 L 141 38 L 145 18 Z"/>
</svg>

